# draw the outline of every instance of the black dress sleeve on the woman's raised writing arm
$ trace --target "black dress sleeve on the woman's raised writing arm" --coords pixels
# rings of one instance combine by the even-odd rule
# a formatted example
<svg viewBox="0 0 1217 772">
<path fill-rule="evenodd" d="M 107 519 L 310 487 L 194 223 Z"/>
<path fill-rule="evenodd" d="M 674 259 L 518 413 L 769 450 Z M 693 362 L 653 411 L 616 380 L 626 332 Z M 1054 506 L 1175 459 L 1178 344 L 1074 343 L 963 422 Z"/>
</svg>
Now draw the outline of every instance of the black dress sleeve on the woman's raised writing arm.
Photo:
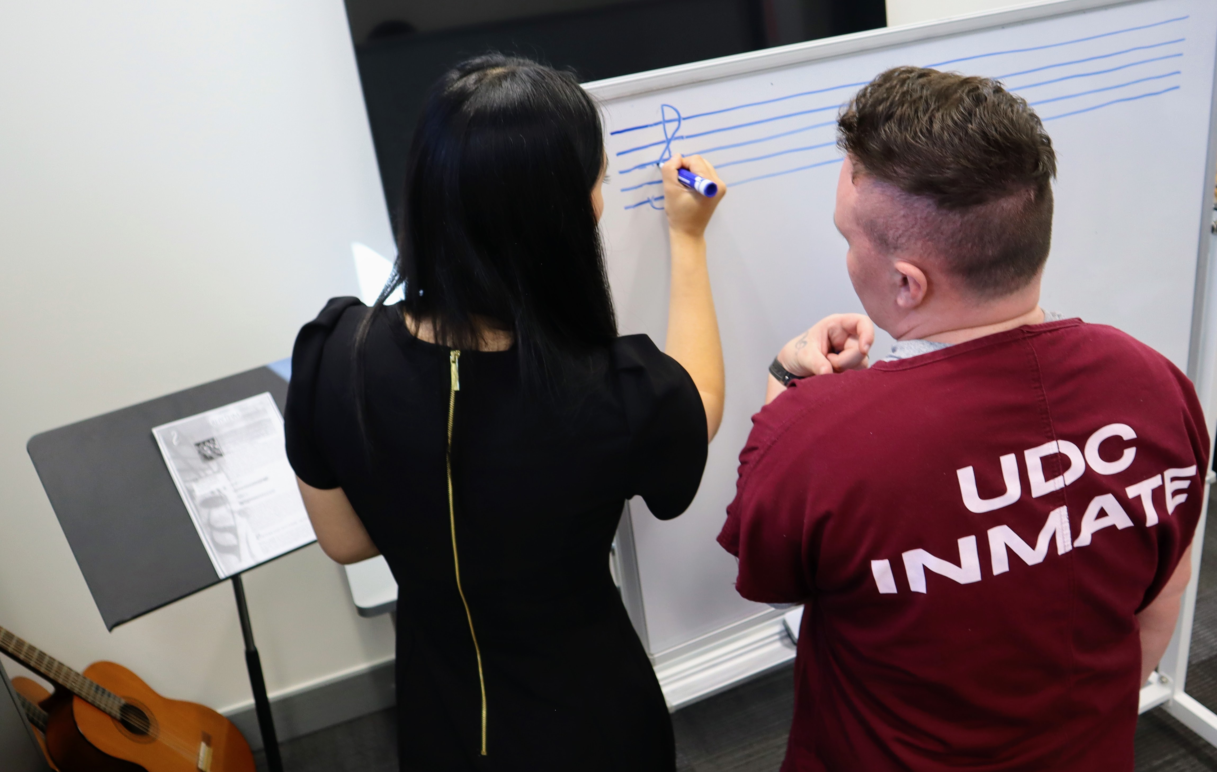
<svg viewBox="0 0 1217 772">
<path fill-rule="evenodd" d="M 706 469 L 706 408 L 692 378 L 647 336 L 613 344 L 613 364 L 630 432 L 629 494 L 655 517 L 692 503 Z"/>
</svg>

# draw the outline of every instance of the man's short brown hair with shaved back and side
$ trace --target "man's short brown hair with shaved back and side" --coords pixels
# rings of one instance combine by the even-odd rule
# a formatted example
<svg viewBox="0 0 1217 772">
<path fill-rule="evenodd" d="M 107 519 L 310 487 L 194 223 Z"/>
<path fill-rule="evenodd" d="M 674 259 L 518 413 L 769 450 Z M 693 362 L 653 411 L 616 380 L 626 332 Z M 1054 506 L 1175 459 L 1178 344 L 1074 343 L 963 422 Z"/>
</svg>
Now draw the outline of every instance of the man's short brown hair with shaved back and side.
<svg viewBox="0 0 1217 772">
<path fill-rule="evenodd" d="M 864 221 L 880 247 L 926 249 L 983 297 L 1015 292 L 1043 269 L 1056 154 L 1039 117 L 1000 83 L 888 69 L 842 108 L 837 145 L 856 175 L 898 188 L 907 204 L 903 222 Z"/>
</svg>

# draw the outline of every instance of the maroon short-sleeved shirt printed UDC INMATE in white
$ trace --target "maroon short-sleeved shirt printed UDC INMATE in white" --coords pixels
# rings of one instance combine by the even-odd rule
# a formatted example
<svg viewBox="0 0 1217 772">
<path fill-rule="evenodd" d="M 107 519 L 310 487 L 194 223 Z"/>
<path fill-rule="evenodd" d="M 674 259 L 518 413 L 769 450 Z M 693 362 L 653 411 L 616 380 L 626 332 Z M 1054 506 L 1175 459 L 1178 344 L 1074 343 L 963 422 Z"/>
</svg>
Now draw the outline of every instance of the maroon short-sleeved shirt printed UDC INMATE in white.
<svg viewBox="0 0 1217 772">
<path fill-rule="evenodd" d="M 784 771 L 1132 770 L 1135 614 L 1200 517 L 1191 383 L 1099 325 L 793 382 L 719 542 L 806 603 Z"/>
</svg>

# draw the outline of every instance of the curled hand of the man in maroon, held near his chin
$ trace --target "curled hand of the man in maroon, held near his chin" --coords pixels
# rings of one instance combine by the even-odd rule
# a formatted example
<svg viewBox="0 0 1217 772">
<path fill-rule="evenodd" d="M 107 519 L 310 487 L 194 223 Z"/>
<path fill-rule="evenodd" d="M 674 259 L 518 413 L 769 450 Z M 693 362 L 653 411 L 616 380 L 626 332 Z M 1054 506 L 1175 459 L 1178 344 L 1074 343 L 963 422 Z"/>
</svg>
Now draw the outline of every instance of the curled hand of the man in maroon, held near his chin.
<svg viewBox="0 0 1217 772">
<path fill-rule="evenodd" d="M 870 346 L 875 343 L 875 325 L 862 314 L 832 314 L 815 322 L 802 336 L 778 351 L 778 364 L 791 374 L 826 376 L 870 366 Z M 785 387 L 769 376 L 765 405 Z"/>
</svg>

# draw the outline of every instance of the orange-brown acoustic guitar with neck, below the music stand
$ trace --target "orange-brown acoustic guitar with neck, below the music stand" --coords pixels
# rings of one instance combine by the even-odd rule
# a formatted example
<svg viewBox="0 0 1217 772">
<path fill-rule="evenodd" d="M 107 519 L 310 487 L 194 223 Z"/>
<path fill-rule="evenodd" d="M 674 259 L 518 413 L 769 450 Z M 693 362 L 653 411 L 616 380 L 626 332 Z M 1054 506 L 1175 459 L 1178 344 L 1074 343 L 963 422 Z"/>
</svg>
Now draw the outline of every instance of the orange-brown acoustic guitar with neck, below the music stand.
<svg viewBox="0 0 1217 772">
<path fill-rule="evenodd" d="M 249 744 L 231 721 L 161 697 L 122 665 L 94 663 L 79 674 L 4 627 L 0 652 L 56 684 L 37 705 L 22 698 L 41 711 L 35 727 L 62 772 L 254 772 Z"/>
</svg>

